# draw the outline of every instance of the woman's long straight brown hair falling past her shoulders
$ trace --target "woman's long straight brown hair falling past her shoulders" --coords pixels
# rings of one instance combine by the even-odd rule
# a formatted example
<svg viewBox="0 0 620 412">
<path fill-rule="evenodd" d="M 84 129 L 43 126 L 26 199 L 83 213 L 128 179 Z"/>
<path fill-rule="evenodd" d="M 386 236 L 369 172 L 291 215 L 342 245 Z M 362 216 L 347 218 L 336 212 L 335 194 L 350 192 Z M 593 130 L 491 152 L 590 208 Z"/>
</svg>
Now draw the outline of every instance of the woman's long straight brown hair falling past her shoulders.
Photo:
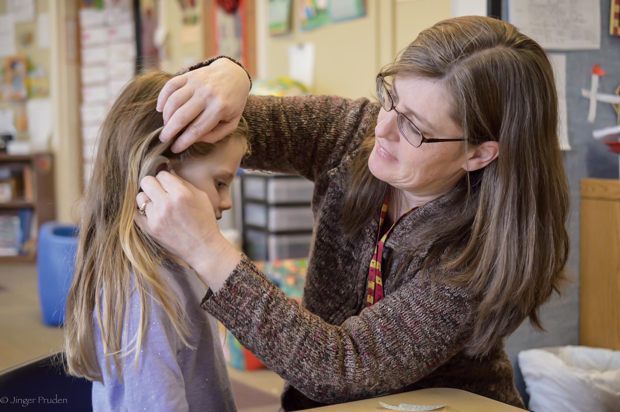
<svg viewBox="0 0 620 412">
<path fill-rule="evenodd" d="M 489 140 L 500 147 L 496 160 L 467 173 L 451 192 L 456 201 L 412 234 L 401 256 L 410 260 L 415 245 L 431 243 L 415 270 L 433 279 L 455 273 L 445 280 L 479 297 L 469 354 L 484 356 L 527 317 L 542 330 L 539 307 L 560 292 L 569 254 L 569 190 L 549 57 L 507 22 L 456 17 L 423 30 L 381 74 L 441 82 L 465 148 Z M 343 211 L 350 235 L 377 216 L 387 188 L 368 169 L 373 146 L 371 128 Z"/>
</svg>

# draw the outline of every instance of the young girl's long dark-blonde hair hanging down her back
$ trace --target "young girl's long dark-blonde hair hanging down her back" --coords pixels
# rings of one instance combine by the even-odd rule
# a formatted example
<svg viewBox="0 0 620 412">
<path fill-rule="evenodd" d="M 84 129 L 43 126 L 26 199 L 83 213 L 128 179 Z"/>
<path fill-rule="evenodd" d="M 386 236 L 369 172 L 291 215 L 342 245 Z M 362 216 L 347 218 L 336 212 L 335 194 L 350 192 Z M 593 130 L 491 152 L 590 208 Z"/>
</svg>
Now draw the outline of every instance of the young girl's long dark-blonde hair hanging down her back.
<svg viewBox="0 0 620 412">
<path fill-rule="evenodd" d="M 79 245 L 66 306 L 63 350 L 70 375 L 103 381 L 95 351 L 96 313 L 107 373 L 111 374 L 112 358 L 122 382 L 121 360 L 134 354 L 138 366 L 149 298 L 161 305 L 181 340 L 191 348 L 187 313 L 159 275 L 159 266 L 170 255 L 133 220 L 140 178 L 155 157 L 186 162 L 206 156 L 219 144 L 197 142 L 175 154 L 170 151 L 174 139 L 159 141 L 163 120 L 156 111 L 157 96 L 171 78 L 169 73 L 154 71 L 130 81 L 100 129 L 91 178 L 79 202 Z M 225 139 L 239 136 L 247 147 L 247 133 L 242 118 L 237 130 Z M 132 276 L 140 302 L 139 328 L 124 347 L 122 333 L 130 310 Z"/>
</svg>

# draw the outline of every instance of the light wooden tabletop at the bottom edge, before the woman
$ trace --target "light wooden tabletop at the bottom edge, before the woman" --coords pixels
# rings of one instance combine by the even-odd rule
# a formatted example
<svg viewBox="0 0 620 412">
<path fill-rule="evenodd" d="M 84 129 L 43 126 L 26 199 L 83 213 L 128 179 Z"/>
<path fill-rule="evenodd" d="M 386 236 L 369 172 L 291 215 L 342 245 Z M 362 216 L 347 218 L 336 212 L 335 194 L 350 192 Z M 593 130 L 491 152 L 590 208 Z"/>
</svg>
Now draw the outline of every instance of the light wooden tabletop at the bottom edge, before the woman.
<svg viewBox="0 0 620 412">
<path fill-rule="evenodd" d="M 475 393 L 460 389 L 430 388 L 412 392 L 397 393 L 361 401 L 340 403 L 339 405 L 322 406 L 310 411 L 321 412 L 370 412 L 390 411 L 379 405 L 379 401 L 387 405 L 398 406 L 399 403 L 414 405 L 446 405 L 433 412 L 523 412 L 521 408 L 481 397 Z"/>
</svg>

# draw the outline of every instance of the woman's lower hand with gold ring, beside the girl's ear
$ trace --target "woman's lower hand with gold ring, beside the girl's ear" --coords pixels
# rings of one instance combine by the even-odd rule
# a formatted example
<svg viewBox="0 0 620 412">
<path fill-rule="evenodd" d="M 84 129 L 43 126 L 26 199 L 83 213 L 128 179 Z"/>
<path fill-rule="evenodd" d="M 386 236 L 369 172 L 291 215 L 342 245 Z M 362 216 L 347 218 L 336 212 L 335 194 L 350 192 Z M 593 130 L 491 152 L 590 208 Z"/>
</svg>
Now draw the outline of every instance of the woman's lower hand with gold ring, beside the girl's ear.
<svg viewBox="0 0 620 412">
<path fill-rule="evenodd" d="M 192 183 L 162 171 L 140 182 L 144 191 L 136 205 L 146 204 L 146 214 L 136 210 L 134 220 L 162 247 L 192 266 L 217 292 L 241 260 L 239 252 L 219 232 L 209 196 Z"/>
</svg>

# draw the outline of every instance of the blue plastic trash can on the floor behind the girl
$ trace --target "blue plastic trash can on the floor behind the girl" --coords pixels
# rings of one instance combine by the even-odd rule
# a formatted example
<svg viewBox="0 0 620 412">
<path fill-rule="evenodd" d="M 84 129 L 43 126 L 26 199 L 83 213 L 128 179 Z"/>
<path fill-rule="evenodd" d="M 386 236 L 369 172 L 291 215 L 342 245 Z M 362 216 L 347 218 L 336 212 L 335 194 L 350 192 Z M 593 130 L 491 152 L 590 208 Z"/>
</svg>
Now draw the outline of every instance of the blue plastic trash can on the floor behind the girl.
<svg viewBox="0 0 620 412">
<path fill-rule="evenodd" d="M 43 323 L 62 325 L 78 251 L 78 227 L 46 222 L 38 234 L 37 276 Z"/>
</svg>

